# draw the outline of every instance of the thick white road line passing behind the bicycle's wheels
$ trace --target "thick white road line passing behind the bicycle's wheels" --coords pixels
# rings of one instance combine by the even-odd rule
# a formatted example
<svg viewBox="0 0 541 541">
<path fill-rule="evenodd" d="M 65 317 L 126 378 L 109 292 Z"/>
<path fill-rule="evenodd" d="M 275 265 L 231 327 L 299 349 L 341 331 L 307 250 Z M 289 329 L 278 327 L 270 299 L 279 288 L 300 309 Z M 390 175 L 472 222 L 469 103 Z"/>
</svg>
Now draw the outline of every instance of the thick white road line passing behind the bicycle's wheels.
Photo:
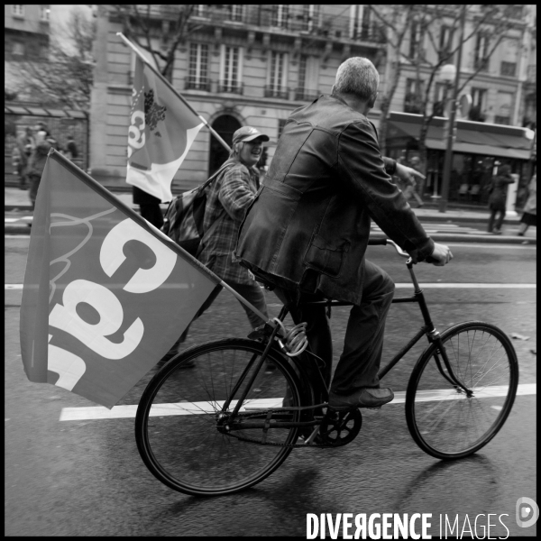
<svg viewBox="0 0 541 541">
<path fill-rule="evenodd" d="M 450 392 L 449 390 L 423 390 L 419 391 L 422 402 L 434 402 L 442 400 L 464 399 L 463 394 Z M 505 386 L 494 386 L 478 391 L 483 399 L 504 397 L 507 394 Z M 536 383 L 522 383 L 518 385 L 517 396 L 536 395 Z M 403 404 L 406 401 L 406 391 L 395 392 L 395 398 L 389 405 Z M 282 399 L 259 399 L 252 400 L 248 408 L 241 411 L 249 411 L 258 408 L 280 408 Z M 232 402 L 232 406 L 236 401 Z M 202 413 L 214 413 L 216 408 L 221 408 L 224 401 L 216 402 L 177 402 L 175 404 L 156 404 L 151 408 L 151 417 L 167 417 L 178 415 L 199 415 Z M 62 408 L 60 421 L 87 421 L 99 419 L 134 418 L 137 406 L 115 406 L 112 409 L 101 406 L 91 408 Z"/>
</svg>

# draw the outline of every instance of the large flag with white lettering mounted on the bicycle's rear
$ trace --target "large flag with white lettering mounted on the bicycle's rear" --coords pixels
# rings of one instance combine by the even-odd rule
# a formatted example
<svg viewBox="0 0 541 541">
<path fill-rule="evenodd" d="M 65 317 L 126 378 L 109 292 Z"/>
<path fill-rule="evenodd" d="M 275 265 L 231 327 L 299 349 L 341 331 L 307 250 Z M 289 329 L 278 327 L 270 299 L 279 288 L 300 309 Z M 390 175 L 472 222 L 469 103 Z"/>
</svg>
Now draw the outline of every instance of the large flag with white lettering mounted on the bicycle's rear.
<svg viewBox="0 0 541 541">
<path fill-rule="evenodd" d="M 50 151 L 21 305 L 30 381 L 112 408 L 170 349 L 220 281 Z"/>
</svg>

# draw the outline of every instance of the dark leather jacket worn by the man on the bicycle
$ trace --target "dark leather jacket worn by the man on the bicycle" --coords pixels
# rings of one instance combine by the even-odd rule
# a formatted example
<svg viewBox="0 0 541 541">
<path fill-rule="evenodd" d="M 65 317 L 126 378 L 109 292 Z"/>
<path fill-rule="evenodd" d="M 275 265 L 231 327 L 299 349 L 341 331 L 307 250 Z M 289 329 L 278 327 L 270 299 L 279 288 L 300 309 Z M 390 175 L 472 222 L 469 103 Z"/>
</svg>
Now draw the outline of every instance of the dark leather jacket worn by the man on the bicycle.
<svg viewBox="0 0 541 541">
<path fill-rule="evenodd" d="M 235 250 L 286 289 L 360 304 L 371 218 L 415 261 L 434 250 L 390 179 L 376 129 L 337 96 L 294 111 Z M 261 271 L 263 271 L 261 273 Z"/>
</svg>

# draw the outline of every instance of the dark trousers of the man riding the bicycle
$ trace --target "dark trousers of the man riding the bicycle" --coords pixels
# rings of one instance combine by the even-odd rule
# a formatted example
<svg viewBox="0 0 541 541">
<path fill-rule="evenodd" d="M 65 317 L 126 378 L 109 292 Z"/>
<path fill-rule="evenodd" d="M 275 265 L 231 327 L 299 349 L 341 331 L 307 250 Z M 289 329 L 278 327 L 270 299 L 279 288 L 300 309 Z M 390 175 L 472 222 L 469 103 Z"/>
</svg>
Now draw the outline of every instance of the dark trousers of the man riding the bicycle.
<svg viewBox="0 0 541 541">
<path fill-rule="evenodd" d="M 287 302 L 290 293 L 276 289 L 276 294 Z M 344 351 L 336 366 L 330 389 L 337 394 L 349 394 L 363 387 L 379 387 L 381 352 L 385 320 L 394 296 L 394 283 L 389 275 L 371 261 L 364 261 L 364 284 L 362 302 L 353 306 L 347 322 Z M 300 303 L 321 300 L 314 294 L 301 293 Z M 291 311 L 297 324 L 307 322 L 307 339 L 310 349 L 326 362 L 324 378 L 327 386 L 331 381 L 333 343 L 326 307 L 299 306 Z M 308 376 L 314 381 L 315 369 L 307 360 Z"/>
</svg>

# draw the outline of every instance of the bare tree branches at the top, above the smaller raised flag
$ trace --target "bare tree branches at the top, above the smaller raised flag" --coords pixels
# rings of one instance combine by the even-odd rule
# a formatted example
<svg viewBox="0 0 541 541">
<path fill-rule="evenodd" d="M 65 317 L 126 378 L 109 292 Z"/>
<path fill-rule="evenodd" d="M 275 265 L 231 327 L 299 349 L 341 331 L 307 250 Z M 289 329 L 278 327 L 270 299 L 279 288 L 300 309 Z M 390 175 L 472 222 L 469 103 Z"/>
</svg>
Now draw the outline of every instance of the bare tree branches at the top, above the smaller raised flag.
<svg viewBox="0 0 541 541">
<path fill-rule="evenodd" d="M 191 20 L 196 5 L 113 5 L 123 23 L 123 33 L 151 53 L 161 75 L 171 81 L 175 52 L 200 25 Z"/>
</svg>

